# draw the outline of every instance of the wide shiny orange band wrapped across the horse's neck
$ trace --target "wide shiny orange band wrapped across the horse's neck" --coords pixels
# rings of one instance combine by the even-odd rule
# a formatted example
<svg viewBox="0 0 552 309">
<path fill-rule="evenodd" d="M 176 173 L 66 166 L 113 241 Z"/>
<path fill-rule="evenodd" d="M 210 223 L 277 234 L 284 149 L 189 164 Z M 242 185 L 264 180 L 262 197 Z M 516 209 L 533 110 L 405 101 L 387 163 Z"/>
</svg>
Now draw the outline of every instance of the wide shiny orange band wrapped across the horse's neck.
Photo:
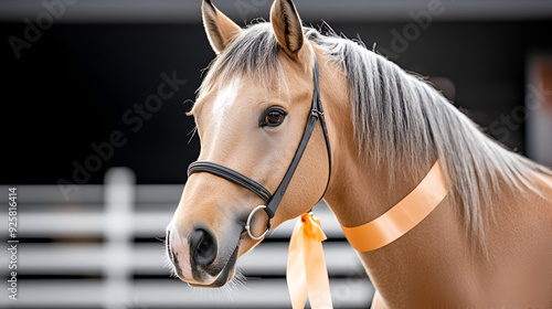
<svg viewBox="0 0 552 309">
<path fill-rule="evenodd" d="M 422 222 L 448 194 L 445 174 L 437 160 L 427 175 L 401 202 L 378 219 L 355 227 L 341 226 L 358 252 L 381 248 Z"/>
</svg>

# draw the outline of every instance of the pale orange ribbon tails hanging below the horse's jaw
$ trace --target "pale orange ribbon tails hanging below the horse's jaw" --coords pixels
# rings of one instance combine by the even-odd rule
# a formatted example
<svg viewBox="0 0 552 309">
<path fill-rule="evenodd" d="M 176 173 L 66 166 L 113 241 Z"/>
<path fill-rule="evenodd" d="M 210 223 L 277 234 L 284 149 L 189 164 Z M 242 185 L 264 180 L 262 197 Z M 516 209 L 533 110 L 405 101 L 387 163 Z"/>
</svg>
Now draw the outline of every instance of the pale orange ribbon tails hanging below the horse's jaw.
<svg viewBox="0 0 552 309">
<path fill-rule="evenodd" d="M 323 259 L 322 242 L 326 238 L 320 221 L 312 213 L 301 215 L 301 220 L 295 225 L 286 271 L 294 309 L 305 308 L 307 296 L 312 309 L 333 308 Z"/>
</svg>

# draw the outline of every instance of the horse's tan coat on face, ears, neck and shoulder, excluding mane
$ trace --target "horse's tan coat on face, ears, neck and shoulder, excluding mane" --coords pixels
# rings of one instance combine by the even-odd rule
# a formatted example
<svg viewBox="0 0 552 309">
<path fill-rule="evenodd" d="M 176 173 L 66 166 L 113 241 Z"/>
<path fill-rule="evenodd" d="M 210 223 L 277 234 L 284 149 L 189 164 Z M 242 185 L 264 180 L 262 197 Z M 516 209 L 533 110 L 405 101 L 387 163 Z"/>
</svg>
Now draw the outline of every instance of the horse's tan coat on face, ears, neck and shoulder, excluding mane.
<svg viewBox="0 0 552 309">
<path fill-rule="evenodd" d="M 241 33 L 210 1 L 203 4 L 203 19 L 217 54 Z M 266 89 L 251 76 L 236 77 L 240 81 L 231 87 L 232 96 L 222 97 L 232 98 L 227 111 L 232 117 L 225 118 L 226 114 L 215 107 L 221 93 L 229 88 L 227 81 L 211 77 L 212 85 L 202 88 L 192 110 L 202 146 L 200 159 L 240 170 L 274 192 L 305 127 L 304 116 L 312 94 L 311 53 L 316 52 L 333 153 L 332 178 L 325 200 L 344 226 L 374 220 L 410 193 L 424 174 L 404 179 L 399 169 L 407 167 L 375 169 L 359 156 L 349 85 L 342 68 L 304 38 L 293 2 L 276 0 L 270 22 L 282 47 L 279 62 L 286 81 L 274 81 Z M 288 116 L 280 127 L 259 131 L 251 119 L 257 119 L 259 110 L 272 104 L 285 108 Z M 317 202 L 327 183 L 327 162 L 323 136 L 317 127 L 273 220 L 274 226 L 300 215 Z M 427 171 L 431 166 L 421 170 Z M 552 178 L 534 173 L 531 182 L 541 195 L 512 190 L 506 180 L 499 180 L 500 194 L 491 196 L 492 205 L 484 205 L 489 210 L 484 212 L 486 251 L 473 245 L 456 202 L 447 198 L 403 237 L 380 249 L 359 253 L 378 290 L 372 308 L 550 308 Z M 240 227 L 229 222 L 237 220 L 235 213 L 246 214 L 259 202 L 247 190 L 214 175 L 192 175 L 168 227 L 171 235 L 178 235 L 172 237 L 180 237 L 172 244 L 177 244 L 173 251 L 181 253 L 176 265 L 181 268 L 180 273 L 177 270 L 181 279 L 197 285 L 214 280 L 190 275 L 194 267 L 187 256 L 190 226 L 201 222 L 212 230 L 219 244 L 229 239 L 229 244 L 220 245 L 220 255 L 237 246 L 241 256 L 258 242 L 244 235 L 227 236 L 229 228 L 235 232 Z M 257 217 L 256 228 L 262 231 L 266 221 Z M 217 258 L 216 263 L 222 267 L 229 260 Z"/>
</svg>

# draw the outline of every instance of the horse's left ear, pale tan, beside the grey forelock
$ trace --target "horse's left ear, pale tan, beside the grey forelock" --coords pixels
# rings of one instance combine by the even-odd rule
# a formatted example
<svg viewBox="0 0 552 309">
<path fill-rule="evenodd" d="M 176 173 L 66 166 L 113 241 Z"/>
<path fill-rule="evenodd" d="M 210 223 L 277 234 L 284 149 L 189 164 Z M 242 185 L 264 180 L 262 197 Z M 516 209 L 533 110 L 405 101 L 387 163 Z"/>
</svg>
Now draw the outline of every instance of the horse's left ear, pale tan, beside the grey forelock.
<svg viewBox="0 0 552 309">
<path fill-rule="evenodd" d="M 201 11 L 209 43 L 211 43 L 213 51 L 220 54 L 231 42 L 231 39 L 242 32 L 242 29 L 219 11 L 211 0 L 203 0 Z"/>
</svg>

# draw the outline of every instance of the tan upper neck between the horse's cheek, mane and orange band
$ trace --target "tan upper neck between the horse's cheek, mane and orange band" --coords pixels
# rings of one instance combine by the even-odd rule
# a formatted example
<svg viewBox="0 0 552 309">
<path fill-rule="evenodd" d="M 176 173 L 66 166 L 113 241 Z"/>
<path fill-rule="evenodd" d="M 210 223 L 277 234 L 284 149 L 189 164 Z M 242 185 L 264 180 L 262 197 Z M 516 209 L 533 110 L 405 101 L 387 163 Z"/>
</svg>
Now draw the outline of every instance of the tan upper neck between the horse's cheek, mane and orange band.
<svg viewBox="0 0 552 309">
<path fill-rule="evenodd" d="M 328 115 L 333 153 L 332 177 L 325 200 L 341 225 L 357 226 L 374 220 L 406 196 L 434 161 L 423 162 L 414 169 L 385 158 L 378 162 L 370 160 L 369 151 L 361 151 L 355 138 L 347 95 L 349 85 L 336 64 L 321 63 L 325 63 L 320 67 L 321 99 Z M 336 76 L 343 78 L 336 81 Z"/>
</svg>

